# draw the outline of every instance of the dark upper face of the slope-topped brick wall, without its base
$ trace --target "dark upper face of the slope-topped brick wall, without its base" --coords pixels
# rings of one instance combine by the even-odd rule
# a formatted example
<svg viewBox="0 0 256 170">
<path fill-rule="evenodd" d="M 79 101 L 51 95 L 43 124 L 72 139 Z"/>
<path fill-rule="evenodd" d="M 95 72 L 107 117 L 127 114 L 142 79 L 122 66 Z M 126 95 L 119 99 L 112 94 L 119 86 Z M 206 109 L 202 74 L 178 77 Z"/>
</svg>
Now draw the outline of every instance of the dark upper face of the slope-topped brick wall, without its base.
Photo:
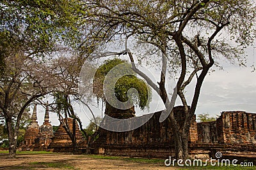
<svg viewBox="0 0 256 170">
<path fill-rule="evenodd" d="M 179 116 L 178 118 L 180 120 L 184 117 L 184 115 L 178 114 L 182 113 L 182 110 L 182 107 L 175 107 L 175 115 Z M 107 145 L 141 145 L 146 143 L 153 145 L 159 143 L 173 143 L 171 123 L 168 119 L 159 123 L 160 115 L 161 112 L 154 113 L 152 118 L 150 118 L 146 124 L 138 127 L 138 129 L 134 129 L 133 131 L 111 132 L 101 129 L 99 139 L 96 143 L 106 143 Z M 140 118 L 138 118 L 137 121 L 140 121 Z M 191 127 L 191 131 L 189 131 L 189 142 L 195 142 L 197 141 L 195 116 L 191 122 Z"/>
</svg>

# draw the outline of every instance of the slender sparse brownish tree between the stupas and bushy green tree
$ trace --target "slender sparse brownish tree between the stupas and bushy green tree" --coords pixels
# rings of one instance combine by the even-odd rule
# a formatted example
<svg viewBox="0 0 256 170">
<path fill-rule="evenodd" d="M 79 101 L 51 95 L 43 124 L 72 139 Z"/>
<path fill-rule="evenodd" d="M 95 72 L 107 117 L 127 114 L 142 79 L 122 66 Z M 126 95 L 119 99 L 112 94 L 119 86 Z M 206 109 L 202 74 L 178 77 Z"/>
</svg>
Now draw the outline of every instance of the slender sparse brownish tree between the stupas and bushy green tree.
<svg viewBox="0 0 256 170">
<path fill-rule="evenodd" d="M 49 70 L 52 70 L 52 80 L 58 81 L 58 86 L 54 87 L 51 96 L 54 102 L 51 105 L 52 111 L 56 112 L 61 125 L 67 132 L 72 141 L 73 153 L 78 152 L 76 139 L 77 122 L 81 131 L 83 131 L 88 146 L 90 139 L 84 131 L 82 122 L 76 114 L 73 105 L 79 102 L 78 81 L 84 58 L 72 53 L 71 49 L 64 49 L 58 52 L 59 57 L 51 59 Z M 42 101 L 40 101 L 42 103 Z M 72 118 L 72 125 L 68 125 L 68 118 Z M 88 148 L 89 150 L 89 148 Z"/>
</svg>

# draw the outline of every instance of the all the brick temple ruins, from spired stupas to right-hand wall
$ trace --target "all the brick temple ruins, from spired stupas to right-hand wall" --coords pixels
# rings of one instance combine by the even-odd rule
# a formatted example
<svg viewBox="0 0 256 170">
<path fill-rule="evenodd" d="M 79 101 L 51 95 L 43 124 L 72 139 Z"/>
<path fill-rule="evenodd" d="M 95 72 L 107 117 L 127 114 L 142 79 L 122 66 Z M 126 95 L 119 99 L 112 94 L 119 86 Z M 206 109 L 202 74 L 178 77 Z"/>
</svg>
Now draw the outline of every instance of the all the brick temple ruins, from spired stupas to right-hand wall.
<svg viewBox="0 0 256 170">
<path fill-rule="evenodd" d="M 184 108 L 174 108 L 175 117 L 184 120 Z M 39 127 L 34 108 L 32 122 L 25 134 L 23 148 L 28 150 L 50 149 L 56 152 L 70 152 L 72 143 L 60 125 L 52 134 L 52 127 L 45 111 L 45 123 Z M 169 157 L 175 156 L 173 131 L 170 120 L 159 122 L 161 112 L 154 113 L 147 123 L 128 132 L 111 132 L 99 129 L 99 138 L 90 148 L 93 153 L 131 157 Z M 48 122 L 47 122 L 48 121 Z M 72 122 L 72 119 L 68 120 Z M 71 123 L 68 123 L 71 125 Z M 109 124 L 111 125 L 111 124 Z M 47 128 L 45 128 L 47 127 Z M 82 151 L 86 141 L 76 127 L 77 145 Z M 256 114 L 244 111 L 223 111 L 216 121 L 196 122 L 196 115 L 189 129 L 189 153 L 193 158 L 214 157 L 221 152 L 228 157 L 256 154 Z"/>
</svg>

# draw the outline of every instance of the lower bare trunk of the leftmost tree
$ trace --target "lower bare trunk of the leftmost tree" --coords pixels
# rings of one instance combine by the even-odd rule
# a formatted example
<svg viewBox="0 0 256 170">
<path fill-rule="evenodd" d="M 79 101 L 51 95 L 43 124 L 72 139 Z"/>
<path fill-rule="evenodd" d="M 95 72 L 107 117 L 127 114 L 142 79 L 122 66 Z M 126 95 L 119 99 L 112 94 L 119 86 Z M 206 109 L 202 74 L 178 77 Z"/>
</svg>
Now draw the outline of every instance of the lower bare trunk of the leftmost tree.
<svg viewBox="0 0 256 170">
<path fill-rule="evenodd" d="M 16 157 L 16 147 L 17 147 L 17 136 L 12 127 L 12 118 L 6 118 L 6 128 L 8 131 L 8 141 L 9 141 L 9 157 Z"/>
</svg>

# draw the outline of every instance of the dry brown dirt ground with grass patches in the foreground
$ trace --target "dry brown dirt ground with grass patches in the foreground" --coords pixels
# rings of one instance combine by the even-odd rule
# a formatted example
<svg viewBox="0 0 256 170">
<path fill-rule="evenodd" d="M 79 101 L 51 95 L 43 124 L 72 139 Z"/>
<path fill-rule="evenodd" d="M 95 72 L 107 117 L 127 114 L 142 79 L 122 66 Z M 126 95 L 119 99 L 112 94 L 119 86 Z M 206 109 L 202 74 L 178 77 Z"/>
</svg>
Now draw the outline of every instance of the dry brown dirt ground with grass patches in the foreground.
<svg viewBox="0 0 256 170">
<path fill-rule="evenodd" d="M 164 160 L 163 160 L 164 161 Z M 166 167 L 164 162 L 145 163 L 122 159 L 96 159 L 86 155 L 71 154 L 18 154 L 16 159 L 8 159 L 0 153 L 0 169 L 177 169 Z"/>
</svg>

